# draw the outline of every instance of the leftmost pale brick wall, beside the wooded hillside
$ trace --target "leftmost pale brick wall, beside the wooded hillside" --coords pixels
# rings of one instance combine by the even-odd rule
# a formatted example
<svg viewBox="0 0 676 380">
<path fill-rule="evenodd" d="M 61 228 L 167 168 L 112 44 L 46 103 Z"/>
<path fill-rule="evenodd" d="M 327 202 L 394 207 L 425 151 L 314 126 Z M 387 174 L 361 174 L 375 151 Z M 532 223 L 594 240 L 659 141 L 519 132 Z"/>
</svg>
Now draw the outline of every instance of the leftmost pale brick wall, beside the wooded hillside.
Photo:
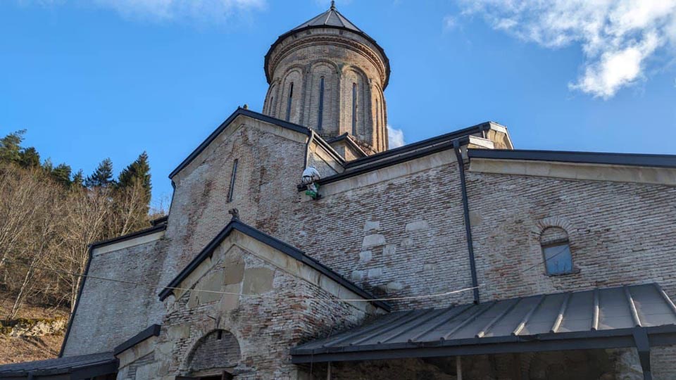
<svg viewBox="0 0 676 380">
<path fill-rule="evenodd" d="M 111 351 L 115 346 L 162 320 L 157 298 L 168 239 L 101 254 L 94 253 L 89 276 L 148 284 L 87 278 L 77 305 L 64 356 Z"/>
</svg>

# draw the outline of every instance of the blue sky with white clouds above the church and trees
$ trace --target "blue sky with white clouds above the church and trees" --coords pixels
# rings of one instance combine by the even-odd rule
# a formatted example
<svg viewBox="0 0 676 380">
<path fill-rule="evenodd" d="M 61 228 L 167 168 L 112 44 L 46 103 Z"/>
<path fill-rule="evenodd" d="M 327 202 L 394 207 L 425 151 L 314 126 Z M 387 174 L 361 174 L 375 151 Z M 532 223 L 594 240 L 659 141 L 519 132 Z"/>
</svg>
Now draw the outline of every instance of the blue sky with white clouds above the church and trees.
<svg viewBox="0 0 676 380">
<path fill-rule="evenodd" d="M 494 120 L 516 148 L 675 154 L 676 0 L 587 3 L 337 7 L 388 54 L 388 122 L 406 143 Z M 168 198 L 168 173 L 220 122 L 261 110 L 270 44 L 327 7 L 1 1 L 0 134 L 27 129 L 43 158 L 85 174 L 148 151 L 154 199 Z"/>
</svg>

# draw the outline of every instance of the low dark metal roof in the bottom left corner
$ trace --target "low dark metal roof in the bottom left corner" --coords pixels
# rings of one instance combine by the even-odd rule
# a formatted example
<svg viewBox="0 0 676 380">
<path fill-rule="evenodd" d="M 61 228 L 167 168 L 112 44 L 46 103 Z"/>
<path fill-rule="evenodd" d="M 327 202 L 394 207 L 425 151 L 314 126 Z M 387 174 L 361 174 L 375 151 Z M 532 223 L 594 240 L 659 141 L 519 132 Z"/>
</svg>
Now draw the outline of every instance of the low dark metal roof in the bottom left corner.
<svg viewBox="0 0 676 380">
<path fill-rule="evenodd" d="M 92 369 L 95 367 L 107 367 L 113 363 L 115 364 L 114 367 L 117 368 L 117 361 L 118 360 L 115 358 L 113 353 L 94 353 L 88 355 L 59 357 L 57 359 L 49 360 L 37 360 L 35 362 L 0 365 L 0 378 L 8 376 L 25 376 L 29 373 L 36 375 L 70 374 L 73 372 L 82 372 L 83 370 Z M 115 371 L 110 373 L 115 373 Z"/>
</svg>

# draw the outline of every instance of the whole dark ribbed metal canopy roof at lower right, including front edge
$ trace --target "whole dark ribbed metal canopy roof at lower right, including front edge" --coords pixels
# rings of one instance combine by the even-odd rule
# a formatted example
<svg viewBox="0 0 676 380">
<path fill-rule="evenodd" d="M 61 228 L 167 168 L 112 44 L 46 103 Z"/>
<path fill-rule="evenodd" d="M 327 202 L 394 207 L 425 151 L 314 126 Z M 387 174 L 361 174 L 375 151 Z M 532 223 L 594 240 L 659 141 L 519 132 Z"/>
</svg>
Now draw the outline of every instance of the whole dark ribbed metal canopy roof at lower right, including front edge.
<svg viewBox="0 0 676 380">
<path fill-rule="evenodd" d="M 676 343 L 676 306 L 658 284 L 392 312 L 292 355 L 301 363 L 617 348 L 634 346 L 635 329 L 652 345 Z"/>
</svg>

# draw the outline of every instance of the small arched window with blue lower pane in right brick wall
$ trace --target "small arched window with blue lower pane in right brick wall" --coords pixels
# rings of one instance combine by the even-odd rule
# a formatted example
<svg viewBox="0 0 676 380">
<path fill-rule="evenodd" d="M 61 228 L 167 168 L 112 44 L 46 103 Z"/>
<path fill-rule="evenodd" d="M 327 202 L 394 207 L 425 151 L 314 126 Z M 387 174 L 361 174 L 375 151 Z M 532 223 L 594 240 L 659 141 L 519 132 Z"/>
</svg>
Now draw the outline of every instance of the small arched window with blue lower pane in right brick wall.
<svg viewBox="0 0 676 380">
<path fill-rule="evenodd" d="M 577 272 L 572 266 L 568 232 L 561 227 L 547 227 L 540 234 L 540 247 L 547 274 L 556 276 Z"/>
</svg>

